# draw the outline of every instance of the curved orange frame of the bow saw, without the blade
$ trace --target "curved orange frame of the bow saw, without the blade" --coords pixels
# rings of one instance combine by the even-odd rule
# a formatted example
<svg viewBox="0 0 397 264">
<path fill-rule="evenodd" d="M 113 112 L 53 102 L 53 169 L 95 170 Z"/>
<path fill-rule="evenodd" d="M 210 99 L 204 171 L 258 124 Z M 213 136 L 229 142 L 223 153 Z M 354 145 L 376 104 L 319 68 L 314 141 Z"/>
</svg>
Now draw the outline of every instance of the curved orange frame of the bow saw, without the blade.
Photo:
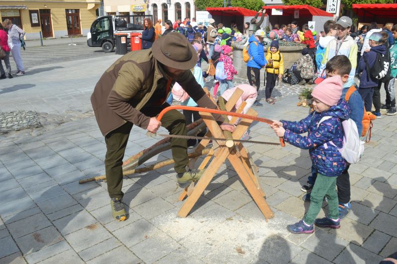
<svg viewBox="0 0 397 264">
<path fill-rule="evenodd" d="M 206 113 L 212 113 L 212 114 L 219 114 L 219 115 L 226 115 L 226 116 L 232 116 L 232 117 L 238 117 L 238 118 L 246 118 L 266 124 L 273 124 L 273 121 L 267 118 L 263 117 L 255 117 L 255 116 L 250 116 L 246 114 L 240 114 L 240 113 L 234 113 L 234 112 L 227 112 L 227 111 L 222 111 L 222 110 L 217 110 L 217 109 L 209 109 L 209 108 L 203 108 L 203 107 L 193 107 L 193 106 L 184 106 L 184 105 L 173 105 L 169 106 L 167 108 L 164 108 L 160 114 L 157 116 L 157 120 L 160 121 L 161 118 L 164 116 L 165 113 L 167 113 L 170 110 L 190 110 L 190 111 L 201 111 L 201 112 L 206 112 Z M 282 147 L 285 147 L 285 142 L 284 138 L 282 136 L 280 138 L 280 144 Z"/>
</svg>

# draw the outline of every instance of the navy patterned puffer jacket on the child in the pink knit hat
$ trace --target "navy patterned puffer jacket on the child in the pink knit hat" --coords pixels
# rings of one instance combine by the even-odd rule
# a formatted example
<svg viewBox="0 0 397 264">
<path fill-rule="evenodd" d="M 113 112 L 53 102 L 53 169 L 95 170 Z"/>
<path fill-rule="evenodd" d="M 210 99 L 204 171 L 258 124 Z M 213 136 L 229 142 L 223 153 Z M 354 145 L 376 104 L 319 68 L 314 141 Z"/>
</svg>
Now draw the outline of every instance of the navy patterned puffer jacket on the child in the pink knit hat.
<svg viewBox="0 0 397 264">
<path fill-rule="evenodd" d="M 327 116 L 332 118 L 322 122 L 317 128 L 319 121 Z M 337 147 L 342 147 L 341 120 L 346 120 L 349 116 L 349 106 L 344 99 L 340 99 L 336 106 L 331 106 L 330 110 L 322 113 L 314 112 L 299 122 L 281 120 L 283 128 L 286 129 L 284 140 L 299 148 L 309 149 L 312 163 L 320 174 L 339 176 L 346 169 L 346 161 L 337 148 L 328 142 L 332 140 Z M 300 135 L 304 132 L 308 132 L 308 135 Z"/>
</svg>

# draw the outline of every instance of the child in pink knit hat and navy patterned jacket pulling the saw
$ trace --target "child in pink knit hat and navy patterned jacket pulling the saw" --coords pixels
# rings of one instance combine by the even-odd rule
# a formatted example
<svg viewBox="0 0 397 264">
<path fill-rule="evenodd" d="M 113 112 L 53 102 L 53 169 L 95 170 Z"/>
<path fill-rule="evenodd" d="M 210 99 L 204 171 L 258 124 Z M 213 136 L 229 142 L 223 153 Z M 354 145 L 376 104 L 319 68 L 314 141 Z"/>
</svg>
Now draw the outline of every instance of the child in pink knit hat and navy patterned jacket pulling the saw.
<svg viewBox="0 0 397 264">
<path fill-rule="evenodd" d="M 287 226 L 291 233 L 311 234 L 314 232 L 314 225 L 334 229 L 340 227 L 336 178 L 346 169 L 347 163 L 338 148 L 343 145 L 341 122 L 350 116 L 349 106 L 344 98 L 340 98 L 341 95 L 340 76 L 327 78 L 313 89 L 313 114 L 298 122 L 274 120 L 270 125 L 276 135 L 284 137 L 285 142 L 309 149 L 312 164 L 318 171 L 310 196 L 309 210 L 302 220 Z M 306 136 L 300 135 L 305 132 L 308 132 Z M 326 196 L 328 217 L 316 219 Z"/>
</svg>

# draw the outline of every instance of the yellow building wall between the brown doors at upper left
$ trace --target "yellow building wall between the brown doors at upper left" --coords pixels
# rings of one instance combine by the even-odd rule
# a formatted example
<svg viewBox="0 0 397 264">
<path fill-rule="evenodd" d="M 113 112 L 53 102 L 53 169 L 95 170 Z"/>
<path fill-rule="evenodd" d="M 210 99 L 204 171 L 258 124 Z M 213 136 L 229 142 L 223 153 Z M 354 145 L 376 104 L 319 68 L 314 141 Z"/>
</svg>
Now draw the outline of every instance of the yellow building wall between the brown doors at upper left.
<svg viewBox="0 0 397 264">
<path fill-rule="evenodd" d="M 94 5 L 90 5 L 90 3 Z M 96 9 L 100 0 L 70 0 L 70 1 L 1 1 L 1 5 L 25 5 L 27 9 L 19 9 L 22 28 L 26 32 L 25 39 L 39 39 L 41 26 L 32 27 L 30 23 L 29 10 L 50 9 L 53 37 L 66 37 L 66 9 L 79 9 L 81 34 L 87 35 L 92 22 L 96 19 Z M 87 9 L 93 6 L 91 9 Z M 1 9 L 1 8 L 0 8 Z M 0 19 L 1 17 L 0 12 Z"/>
</svg>

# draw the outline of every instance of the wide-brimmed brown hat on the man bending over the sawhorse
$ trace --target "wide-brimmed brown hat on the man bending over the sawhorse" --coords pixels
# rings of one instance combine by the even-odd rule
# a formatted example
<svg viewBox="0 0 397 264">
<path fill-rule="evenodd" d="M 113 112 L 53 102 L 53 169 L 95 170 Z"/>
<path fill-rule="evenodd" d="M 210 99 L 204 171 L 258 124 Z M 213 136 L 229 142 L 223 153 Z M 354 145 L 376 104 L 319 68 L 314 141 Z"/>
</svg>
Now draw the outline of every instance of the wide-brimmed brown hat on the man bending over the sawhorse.
<svg viewBox="0 0 397 264">
<path fill-rule="evenodd" d="M 157 61 L 176 69 L 191 69 L 197 63 L 195 48 L 179 32 L 171 32 L 157 39 L 152 53 Z"/>
</svg>

